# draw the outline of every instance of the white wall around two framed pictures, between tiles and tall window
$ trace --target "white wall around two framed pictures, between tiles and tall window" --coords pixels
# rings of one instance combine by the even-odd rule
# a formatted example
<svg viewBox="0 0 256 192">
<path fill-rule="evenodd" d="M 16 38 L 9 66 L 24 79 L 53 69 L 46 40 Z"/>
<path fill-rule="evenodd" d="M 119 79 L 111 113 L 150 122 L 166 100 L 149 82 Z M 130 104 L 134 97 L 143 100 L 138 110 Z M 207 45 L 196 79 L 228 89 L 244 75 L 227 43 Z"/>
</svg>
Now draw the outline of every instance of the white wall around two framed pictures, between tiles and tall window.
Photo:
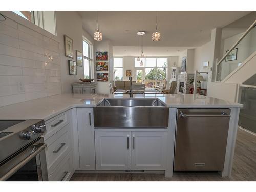
<svg viewBox="0 0 256 192">
<path fill-rule="evenodd" d="M 76 11 L 56 11 L 57 39 L 61 59 L 61 84 L 62 93 L 72 93 L 71 83 L 80 82 L 79 78 L 84 78 L 83 66 L 77 66 L 77 75 L 69 75 L 68 60 L 76 61 L 76 50 L 82 52 L 82 36 L 93 42 L 92 37 L 82 28 L 82 20 Z M 73 39 L 74 57 L 65 56 L 64 35 Z"/>
</svg>

